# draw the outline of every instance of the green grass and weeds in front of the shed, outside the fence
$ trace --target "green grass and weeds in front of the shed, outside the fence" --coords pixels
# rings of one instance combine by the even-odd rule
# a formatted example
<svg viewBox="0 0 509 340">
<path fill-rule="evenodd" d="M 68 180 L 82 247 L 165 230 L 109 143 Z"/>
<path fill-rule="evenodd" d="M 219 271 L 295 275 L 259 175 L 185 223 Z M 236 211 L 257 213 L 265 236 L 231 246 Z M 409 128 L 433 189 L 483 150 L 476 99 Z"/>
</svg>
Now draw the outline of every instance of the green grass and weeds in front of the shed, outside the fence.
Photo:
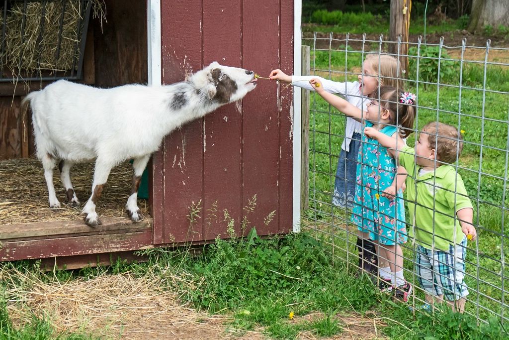
<svg viewBox="0 0 509 340">
<path fill-rule="evenodd" d="M 241 228 L 240 228 L 241 229 Z M 239 227 L 236 227 L 240 234 Z M 158 277 L 161 291 L 177 291 L 182 303 L 191 308 L 225 313 L 231 316 L 227 326 L 238 334 L 262 327 L 267 338 L 295 339 L 299 333 L 317 338 L 340 335 L 347 329 L 341 317 L 369 313 L 386 323 L 378 328 L 379 336 L 391 339 L 503 339 L 509 334 L 497 318 L 477 325 L 474 317 L 458 315 L 441 308 L 433 316 L 414 313 L 407 304 L 394 303 L 372 285 L 369 278 L 355 276 L 355 266 L 347 268 L 341 250 L 333 248 L 340 234 L 322 234 L 306 227 L 286 236 L 261 239 L 256 228 L 246 238 L 231 242 L 216 240 L 203 253 L 177 249 L 142 251 L 149 260 L 143 264 L 118 261 L 110 267 L 77 272 L 38 272 L 26 261 L 3 264 L 4 270 L 17 268 L 32 271 L 41 280 L 72 282 L 74 277 L 93 278 L 115 273 L 147 273 Z M 247 230 L 246 230 L 247 231 Z M 337 244 L 336 244 L 337 245 Z M 335 255 L 332 252 L 335 251 Z M 2 282 L 5 289 L 22 282 Z M 25 287 L 30 290 L 30 287 Z M 9 320 L 5 303 L 0 306 L 0 338 L 5 339 L 89 339 L 87 335 L 55 334 L 53 325 L 35 317 L 26 326 L 15 329 Z M 292 313 L 293 320 L 290 320 Z M 307 321 L 309 313 L 315 316 Z M 239 332 L 240 331 L 240 332 Z M 433 339 L 433 337 L 428 337 Z"/>
</svg>

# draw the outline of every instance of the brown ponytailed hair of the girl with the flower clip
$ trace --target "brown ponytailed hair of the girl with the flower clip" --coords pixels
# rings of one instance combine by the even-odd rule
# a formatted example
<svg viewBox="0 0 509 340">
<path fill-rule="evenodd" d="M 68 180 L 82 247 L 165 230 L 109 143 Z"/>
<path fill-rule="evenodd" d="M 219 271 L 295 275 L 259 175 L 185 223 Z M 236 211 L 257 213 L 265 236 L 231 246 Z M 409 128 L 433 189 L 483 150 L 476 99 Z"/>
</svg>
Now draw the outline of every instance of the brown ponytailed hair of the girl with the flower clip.
<svg viewBox="0 0 509 340">
<path fill-rule="evenodd" d="M 384 85 L 375 89 L 373 99 L 380 100 L 380 106 L 389 110 L 389 124 L 401 127 L 399 134 L 402 138 L 406 138 L 412 133 L 414 127 L 416 102 L 412 104 L 402 103 L 401 95 L 401 91 L 395 87 Z"/>
</svg>

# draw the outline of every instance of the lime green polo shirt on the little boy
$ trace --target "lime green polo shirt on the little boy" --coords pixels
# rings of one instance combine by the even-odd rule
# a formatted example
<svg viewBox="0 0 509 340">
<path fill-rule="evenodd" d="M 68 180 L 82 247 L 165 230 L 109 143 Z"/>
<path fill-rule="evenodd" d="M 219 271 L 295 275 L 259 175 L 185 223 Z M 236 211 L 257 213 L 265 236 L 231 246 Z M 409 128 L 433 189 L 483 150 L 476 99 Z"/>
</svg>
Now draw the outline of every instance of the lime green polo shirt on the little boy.
<svg viewBox="0 0 509 340">
<path fill-rule="evenodd" d="M 451 244 L 459 244 L 465 234 L 456 212 L 472 207 L 460 174 L 453 166 L 441 165 L 419 176 L 421 167 L 416 166 L 415 151 L 409 146 L 402 149 L 399 158 L 400 165 L 408 172 L 405 194 L 412 225 L 415 211 L 415 230 L 411 227 L 410 235 L 428 249 L 432 248 L 433 241 L 435 248 L 444 251 Z M 456 241 L 453 240 L 455 229 Z"/>
</svg>

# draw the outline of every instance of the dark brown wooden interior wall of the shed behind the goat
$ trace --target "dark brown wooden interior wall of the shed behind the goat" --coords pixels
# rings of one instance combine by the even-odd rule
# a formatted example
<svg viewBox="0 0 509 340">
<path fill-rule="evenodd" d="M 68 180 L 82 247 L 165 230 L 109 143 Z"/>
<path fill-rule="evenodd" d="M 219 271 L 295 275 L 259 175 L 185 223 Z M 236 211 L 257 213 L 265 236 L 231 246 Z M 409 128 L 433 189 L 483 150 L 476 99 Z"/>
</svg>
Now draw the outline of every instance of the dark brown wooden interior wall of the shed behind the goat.
<svg viewBox="0 0 509 340">
<path fill-rule="evenodd" d="M 85 80 L 97 87 L 146 84 L 147 10 L 144 1 L 105 0 L 106 21 L 92 19 L 85 55 Z M 93 43 L 90 43 L 93 42 Z M 20 114 L 22 96 L 48 83 L 29 87 L 0 84 L 0 161 L 35 152 L 31 116 Z M 13 95 L 14 94 L 14 95 Z"/>
</svg>

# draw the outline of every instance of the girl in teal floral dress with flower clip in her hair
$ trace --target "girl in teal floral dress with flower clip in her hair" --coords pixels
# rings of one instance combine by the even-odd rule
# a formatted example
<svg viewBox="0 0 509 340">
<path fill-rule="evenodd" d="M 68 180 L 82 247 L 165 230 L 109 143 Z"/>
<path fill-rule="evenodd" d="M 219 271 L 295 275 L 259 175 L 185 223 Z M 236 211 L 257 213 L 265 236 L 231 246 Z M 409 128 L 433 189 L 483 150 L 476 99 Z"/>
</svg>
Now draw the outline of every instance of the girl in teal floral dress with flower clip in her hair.
<svg viewBox="0 0 509 340">
<path fill-rule="evenodd" d="M 309 81 L 315 91 L 334 108 L 358 121 L 393 138 L 402 145 L 412 133 L 415 119 L 415 95 L 401 93 L 391 86 L 381 86 L 373 92 L 367 111 L 362 111 L 343 98 L 328 93 L 318 78 Z M 401 187 L 406 179 L 403 167 L 397 167 L 394 158 L 385 147 L 362 136 L 357 167 L 357 187 L 352 222 L 364 237 L 373 240 L 379 260 L 388 263 L 390 273 L 380 266 L 379 288 L 394 292 L 404 302 L 412 292 L 412 286 L 403 275 L 403 252 L 400 244 L 407 242 L 405 209 Z M 401 144 L 400 144 L 401 143 Z"/>
</svg>

